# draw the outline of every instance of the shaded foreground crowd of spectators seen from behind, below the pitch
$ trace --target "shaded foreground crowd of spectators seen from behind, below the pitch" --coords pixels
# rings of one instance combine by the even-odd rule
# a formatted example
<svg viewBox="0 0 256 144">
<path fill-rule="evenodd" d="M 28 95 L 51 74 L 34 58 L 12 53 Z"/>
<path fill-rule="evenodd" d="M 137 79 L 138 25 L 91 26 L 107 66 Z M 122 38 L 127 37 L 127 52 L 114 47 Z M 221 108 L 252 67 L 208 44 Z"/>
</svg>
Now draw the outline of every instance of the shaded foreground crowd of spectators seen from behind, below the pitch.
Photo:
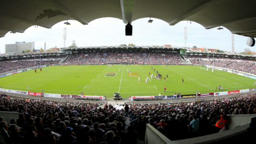
<svg viewBox="0 0 256 144">
<path fill-rule="evenodd" d="M 147 124 L 170 140 L 179 140 L 219 132 L 223 128 L 219 121 L 230 121 L 227 115 L 256 114 L 256 93 L 178 104 L 109 104 L 103 109 L 97 108 L 98 103 L 4 96 L 0 103 L 0 111 L 20 113 L 10 125 L 0 117 L 1 130 L 14 143 L 136 143 L 145 138 Z M 130 125 L 125 123 L 129 119 Z"/>
</svg>

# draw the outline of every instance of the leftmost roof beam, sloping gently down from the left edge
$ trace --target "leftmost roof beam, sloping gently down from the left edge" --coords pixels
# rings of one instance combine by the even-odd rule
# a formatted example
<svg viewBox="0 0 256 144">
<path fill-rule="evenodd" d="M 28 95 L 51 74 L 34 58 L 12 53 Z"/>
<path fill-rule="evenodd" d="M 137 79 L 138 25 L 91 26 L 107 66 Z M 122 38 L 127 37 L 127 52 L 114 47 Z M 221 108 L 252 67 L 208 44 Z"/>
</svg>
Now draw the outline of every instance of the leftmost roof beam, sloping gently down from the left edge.
<svg viewBox="0 0 256 144">
<path fill-rule="evenodd" d="M 45 25 L 44 23 L 40 23 L 40 22 L 34 21 L 34 20 L 29 20 L 27 18 L 21 18 L 21 17 L 18 17 L 17 15 L 12 15 L 10 13 L 0 13 L 0 19 L 2 19 L 2 18 L 25 22 L 30 25 L 37 25 L 37 26 L 44 27 L 44 28 L 52 28 L 51 26 Z M 16 31 L 16 32 L 19 32 L 19 31 Z M 19 32 L 19 33 L 23 33 L 23 32 Z"/>
</svg>

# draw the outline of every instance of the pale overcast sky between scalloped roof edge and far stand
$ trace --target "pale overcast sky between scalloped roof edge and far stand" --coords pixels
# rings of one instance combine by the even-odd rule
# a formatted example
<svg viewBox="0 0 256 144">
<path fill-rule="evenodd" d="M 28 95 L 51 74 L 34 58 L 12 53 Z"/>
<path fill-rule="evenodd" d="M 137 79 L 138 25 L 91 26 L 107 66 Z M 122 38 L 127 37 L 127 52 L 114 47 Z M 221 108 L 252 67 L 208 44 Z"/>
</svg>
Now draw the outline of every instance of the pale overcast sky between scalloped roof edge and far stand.
<svg viewBox="0 0 256 144">
<path fill-rule="evenodd" d="M 152 19 L 152 18 L 151 18 Z M 125 23 L 116 18 L 101 18 L 82 25 L 77 21 L 69 21 L 70 26 L 59 22 L 51 29 L 42 27 L 28 28 L 25 33 L 10 34 L 0 38 L 0 53 L 5 53 L 5 44 L 15 42 L 35 42 L 35 49 L 39 50 L 52 47 L 63 47 L 63 28 L 67 27 L 66 46 L 70 46 L 75 40 L 78 47 L 82 46 L 117 46 L 133 43 L 137 46 L 152 46 L 170 44 L 174 47 L 184 46 L 184 27 L 188 28 L 187 46 L 206 47 L 207 49 L 219 49 L 230 51 L 231 33 L 223 30 L 204 29 L 196 22 L 181 21 L 175 26 L 169 26 L 165 21 L 153 18 L 153 23 L 147 23 L 149 18 L 143 18 L 132 22 L 133 36 L 125 36 Z M 66 21 L 65 21 L 66 22 Z M 243 52 L 245 48 L 254 51 L 246 45 L 247 37 L 235 35 L 235 52 Z"/>
</svg>

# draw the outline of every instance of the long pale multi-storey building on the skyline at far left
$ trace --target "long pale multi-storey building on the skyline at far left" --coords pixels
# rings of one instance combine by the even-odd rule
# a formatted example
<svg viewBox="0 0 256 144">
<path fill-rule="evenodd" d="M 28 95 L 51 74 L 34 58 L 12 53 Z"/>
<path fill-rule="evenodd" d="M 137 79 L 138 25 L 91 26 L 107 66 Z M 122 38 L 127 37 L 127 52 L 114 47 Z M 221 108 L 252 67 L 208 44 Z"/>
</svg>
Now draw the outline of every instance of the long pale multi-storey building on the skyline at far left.
<svg viewBox="0 0 256 144">
<path fill-rule="evenodd" d="M 5 44 L 5 53 L 19 53 L 25 50 L 33 51 L 35 42 L 15 42 L 15 44 Z"/>
</svg>

